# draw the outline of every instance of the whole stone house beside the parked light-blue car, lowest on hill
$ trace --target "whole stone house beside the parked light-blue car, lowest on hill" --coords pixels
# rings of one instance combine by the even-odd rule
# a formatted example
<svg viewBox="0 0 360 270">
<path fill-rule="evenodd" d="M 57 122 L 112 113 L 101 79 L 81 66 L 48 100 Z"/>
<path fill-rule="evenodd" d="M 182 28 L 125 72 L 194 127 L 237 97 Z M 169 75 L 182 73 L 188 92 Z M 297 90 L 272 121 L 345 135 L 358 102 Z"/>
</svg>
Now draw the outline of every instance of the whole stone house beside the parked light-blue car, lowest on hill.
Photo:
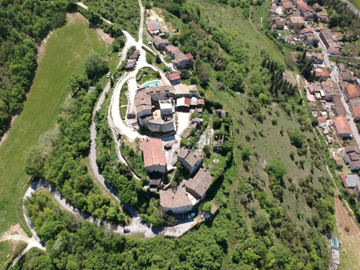
<svg viewBox="0 0 360 270">
<path fill-rule="evenodd" d="M 159 190 L 161 208 L 169 214 L 190 212 L 197 200 L 184 188 Z"/>
</svg>

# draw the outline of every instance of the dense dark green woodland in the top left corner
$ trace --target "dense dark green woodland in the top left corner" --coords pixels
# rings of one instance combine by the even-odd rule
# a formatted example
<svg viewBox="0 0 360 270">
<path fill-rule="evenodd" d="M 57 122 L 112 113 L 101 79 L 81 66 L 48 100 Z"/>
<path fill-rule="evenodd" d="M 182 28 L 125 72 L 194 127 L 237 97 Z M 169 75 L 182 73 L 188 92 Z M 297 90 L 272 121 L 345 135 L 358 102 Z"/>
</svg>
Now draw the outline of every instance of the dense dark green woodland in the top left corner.
<svg viewBox="0 0 360 270">
<path fill-rule="evenodd" d="M 0 5 L 0 137 L 21 112 L 36 69 L 39 44 L 66 22 L 70 1 L 3 1 Z"/>
</svg>

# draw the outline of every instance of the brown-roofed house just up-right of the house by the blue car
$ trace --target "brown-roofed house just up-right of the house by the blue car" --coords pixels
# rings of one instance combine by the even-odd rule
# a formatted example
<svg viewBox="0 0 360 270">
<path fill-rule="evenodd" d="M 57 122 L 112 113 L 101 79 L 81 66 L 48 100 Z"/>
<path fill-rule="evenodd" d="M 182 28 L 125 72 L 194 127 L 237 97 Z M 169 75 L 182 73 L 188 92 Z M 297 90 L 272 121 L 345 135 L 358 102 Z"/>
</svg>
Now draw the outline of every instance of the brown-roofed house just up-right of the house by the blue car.
<svg viewBox="0 0 360 270">
<path fill-rule="evenodd" d="M 206 192 L 212 182 L 212 176 L 206 169 L 199 168 L 198 172 L 193 178 L 186 181 L 186 190 L 199 201 L 202 201 L 206 196 Z"/>
</svg>

